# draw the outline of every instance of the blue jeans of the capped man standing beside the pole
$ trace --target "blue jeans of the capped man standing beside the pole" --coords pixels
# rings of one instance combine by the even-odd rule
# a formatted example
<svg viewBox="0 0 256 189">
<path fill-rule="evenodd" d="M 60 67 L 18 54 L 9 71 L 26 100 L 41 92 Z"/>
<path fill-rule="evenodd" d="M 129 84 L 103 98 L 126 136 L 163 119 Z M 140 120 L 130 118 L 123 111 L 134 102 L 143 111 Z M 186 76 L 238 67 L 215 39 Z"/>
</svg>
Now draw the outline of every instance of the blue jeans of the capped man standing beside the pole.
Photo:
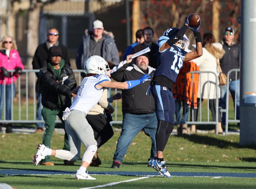
<svg viewBox="0 0 256 189">
<path fill-rule="evenodd" d="M 227 95 L 227 87 L 226 86 L 221 86 L 221 96 L 220 96 L 220 103 L 219 106 L 221 106 L 223 109 L 226 109 L 226 95 Z M 239 98 L 240 98 L 240 79 L 237 81 L 231 81 L 229 82 L 229 91 L 231 93 L 234 106 L 236 102 L 236 119 L 240 119 L 240 103 L 239 103 Z M 235 99 L 236 95 L 236 99 Z M 226 124 L 226 113 L 222 112 L 222 124 Z"/>
</svg>

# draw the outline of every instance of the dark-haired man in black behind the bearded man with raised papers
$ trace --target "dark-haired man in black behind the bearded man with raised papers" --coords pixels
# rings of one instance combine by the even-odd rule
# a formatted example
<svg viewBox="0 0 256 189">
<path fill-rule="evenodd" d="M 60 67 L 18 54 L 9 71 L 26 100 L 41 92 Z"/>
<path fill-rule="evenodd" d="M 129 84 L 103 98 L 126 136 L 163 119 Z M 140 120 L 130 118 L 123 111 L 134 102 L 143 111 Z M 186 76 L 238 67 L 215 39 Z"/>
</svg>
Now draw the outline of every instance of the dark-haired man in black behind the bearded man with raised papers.
<svg viewBox="0 0 256 189">
<path fill-rule="evenodd" d="M 149 63 L 148 66 L 156 68 L 157 67 L 157 52 L 158 52 L 158 46 L 156 43 L 153 43 L 152 39 L 154 36 L 154 30 L 150 27 L 146 27 L 143 29 L 143 37 L 144 37 L 144 43 L 140 43 L 133 47 L 132 54 L 139 52 L 145 48 L 150 48 L 151 51 L 148 52 L 149 57 Z M 135 62 L 132 61 L 134 64 Z"/>
</svg>

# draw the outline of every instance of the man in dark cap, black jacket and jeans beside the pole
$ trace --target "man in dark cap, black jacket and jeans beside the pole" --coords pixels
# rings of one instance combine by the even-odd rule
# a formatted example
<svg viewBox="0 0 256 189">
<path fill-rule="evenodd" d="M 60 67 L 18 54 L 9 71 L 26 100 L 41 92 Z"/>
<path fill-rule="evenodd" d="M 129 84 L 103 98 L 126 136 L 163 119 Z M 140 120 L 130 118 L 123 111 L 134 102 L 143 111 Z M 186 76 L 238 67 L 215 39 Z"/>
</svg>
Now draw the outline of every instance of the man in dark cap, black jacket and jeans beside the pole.
<svg viewBox="0 0 256 189">
<path fill-rule="evenodd" d="M 227 75 L 228 71 L 231 69 L 240 69 L 240 46 L 236 44 L 234 39 L 234 29 L 231 27 L 227 27 L 224 29 L 224 38 L 221 42 L 223 45 L 223 49 L 226 51 L 223 58 L 220 59 L 220 67 L 222 71 Z M 236 78 L 236 72 L 232 72 L 229 77 L 229 91 L 231 93 L 231 96 L 233 98 L 234 106 L 236 102 L 236 119 L 240 119 L 240 74 L 237 73 Z M 237 79 L 237 81 L 236 81 Z M 220 96 L 220 103 L 219 106 L 221 106 L 223 109 L 226 109 L 226 95 L 227 95 L 227 87 L 226 85 L 221 86 L 221 96 Z M 235 99 L 236 97 L 236 99 Z M 222 124 L 226 124 L 226 113 L 222 113 Z"/>
</svg>

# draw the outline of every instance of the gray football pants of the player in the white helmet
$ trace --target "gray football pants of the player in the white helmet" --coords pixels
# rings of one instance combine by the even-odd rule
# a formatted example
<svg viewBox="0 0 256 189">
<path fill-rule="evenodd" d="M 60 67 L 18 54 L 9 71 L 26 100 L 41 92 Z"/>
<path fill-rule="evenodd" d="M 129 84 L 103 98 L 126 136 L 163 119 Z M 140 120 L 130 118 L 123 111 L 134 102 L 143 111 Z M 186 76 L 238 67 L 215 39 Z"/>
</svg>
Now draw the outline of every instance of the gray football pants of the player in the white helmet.
<svg viewBox="0 0 256 189">
<path fill-rule="evenodd" d="M 70 153 L 80 157 L 81 142 L 86 148 L 97 146 L 91 125 L 87 122 L 84 112 L 72 110 L 65 120 Z"/>
</svg>

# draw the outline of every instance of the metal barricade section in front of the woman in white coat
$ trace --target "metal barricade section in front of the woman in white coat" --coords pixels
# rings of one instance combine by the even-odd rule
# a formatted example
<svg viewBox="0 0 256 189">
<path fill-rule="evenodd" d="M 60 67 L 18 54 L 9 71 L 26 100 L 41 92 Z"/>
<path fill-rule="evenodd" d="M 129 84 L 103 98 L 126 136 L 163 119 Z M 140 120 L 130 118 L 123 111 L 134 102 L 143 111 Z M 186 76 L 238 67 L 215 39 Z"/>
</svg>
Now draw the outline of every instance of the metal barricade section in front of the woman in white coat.
<svg viewBox="0 0 256 189">
<path fill-rule="evenodd" d="M 216 116 L 215 116 L 215 119 L 216 119 L 216 121 L 214 122 L 214 121 L 210 121 L 210 114 L 209 114 L 209 98 L 207 99 L 207 121 L 202 121 L 202 97 L 201 97 L 201 93 L 200 93 L 200 107 L 199 107 L 199 112 L 200 112 L 200 117 L 199 117 L 199 121 L 195 121 L 194 120 L 194 109 L 192 109 L 192 111 L 191 111 L 191 117 L 192 117 L 192 121 L 187 121 L 187 120 L 185 120 L 185 123 L 187 123 L 187 124 L 214 124 L 214 125 L 216 125 L 216 134 L 218 134 L 218 119 L 219 119 L 219 114 L 218 114 L 218 111 L 219 111 L 219 98 L 218 98 L 218 93 L 219 93 L 219 91 L 218 91 L 218 88 L 219 88 L 219 85 L 218 85 L 218 80 L 219 80 L 219 77 L 218 77 L 218 75 L 216 74 L 216 73 L 214 73 L 214 72 L 212 72 L 212 71 L 191 71 L 191 72 L 188 72 L 188 73 L 192 73 L 192 80 L 194 80 L 194 74 L 202 74 L 202 73 L 207 73 L 207 75 L 208 75 L 208 81 L 207 81 L 207 91 L 209 91 L 209 83 L 210 83 L 210 81 L 209 81 L 209 74 L 214 74 L 215 75 L 215 78 L 216 78 L 216 80 L 215 80 L 215 89 L 216 89 L 216 106 L 215 106 L 215 111 L 216 111 Z M 201 87 L 203 87 L 203 86 L 201 86 L 201 77 L 199 76 L 199 86 L 198 86 L 198 91 L 201 91 Z M 192 82 L 192 88 L 193 88 L 193 85 L 194 85 L 194 83 Z M 186 93 L 186 91 L 185 91 L 185 93 Z M 184 107 L 184 106 L 183 106 Z M 185 109 L 185 114 L 186 114 L 186 109 Z"/>
</svg>

